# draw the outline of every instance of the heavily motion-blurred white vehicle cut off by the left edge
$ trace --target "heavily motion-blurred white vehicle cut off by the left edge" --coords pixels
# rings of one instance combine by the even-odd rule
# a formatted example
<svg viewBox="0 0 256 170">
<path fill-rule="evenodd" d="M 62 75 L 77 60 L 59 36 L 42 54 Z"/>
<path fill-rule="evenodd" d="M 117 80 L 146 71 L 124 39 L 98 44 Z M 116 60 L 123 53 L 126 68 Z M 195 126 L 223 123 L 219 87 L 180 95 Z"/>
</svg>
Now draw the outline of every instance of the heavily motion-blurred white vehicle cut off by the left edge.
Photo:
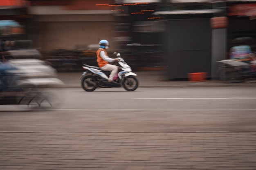
<svg viewBox="0 0 256 170">
<path fill-rule="evenodd" d="M 36 55 L 26 58 L 31 54 Z M 60 102 L 54 87 L 64 83 L 52 66 L 35 57 L 40 55 L 37 50 L 13 50 L 0 55 L 7 58 L 0 62 L 0 105 L 53 108 Z"/>
</svg>

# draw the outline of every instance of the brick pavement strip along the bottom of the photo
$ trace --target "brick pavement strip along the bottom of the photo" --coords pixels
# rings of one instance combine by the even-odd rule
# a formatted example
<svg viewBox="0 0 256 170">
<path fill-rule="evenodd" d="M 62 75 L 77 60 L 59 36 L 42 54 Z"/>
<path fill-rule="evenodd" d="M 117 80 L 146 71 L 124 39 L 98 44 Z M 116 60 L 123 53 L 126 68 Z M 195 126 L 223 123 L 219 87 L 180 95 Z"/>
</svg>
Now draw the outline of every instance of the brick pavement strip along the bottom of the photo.
<svg viewBox="0 0 256 170">
<path fill-rule="evenodd" d="M 0 170 L 255 170 L 256 132 L 0 132 Z"/>
</svg>

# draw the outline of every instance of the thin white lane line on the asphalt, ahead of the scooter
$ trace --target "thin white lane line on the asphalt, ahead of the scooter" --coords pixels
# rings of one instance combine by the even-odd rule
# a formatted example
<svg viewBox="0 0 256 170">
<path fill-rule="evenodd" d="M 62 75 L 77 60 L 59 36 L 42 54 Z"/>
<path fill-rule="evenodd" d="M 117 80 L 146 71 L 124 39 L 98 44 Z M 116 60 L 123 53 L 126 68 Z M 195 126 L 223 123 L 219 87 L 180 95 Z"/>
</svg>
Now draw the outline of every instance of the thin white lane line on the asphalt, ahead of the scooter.
<svg viewBox="0 0 256 170">
<path fill-rule="evenodd" d="M 142 99 L 142 100 L 166 100 L 166 99 L 188 99 L 188 100 L 217 100 L 217 99 L 256 99 L 256 97 L 212 97 L 212 98 L 203 98 L 203 97 L 186 97 L 186 98 L 133 98 L 133 99 Z"/>
</svg>

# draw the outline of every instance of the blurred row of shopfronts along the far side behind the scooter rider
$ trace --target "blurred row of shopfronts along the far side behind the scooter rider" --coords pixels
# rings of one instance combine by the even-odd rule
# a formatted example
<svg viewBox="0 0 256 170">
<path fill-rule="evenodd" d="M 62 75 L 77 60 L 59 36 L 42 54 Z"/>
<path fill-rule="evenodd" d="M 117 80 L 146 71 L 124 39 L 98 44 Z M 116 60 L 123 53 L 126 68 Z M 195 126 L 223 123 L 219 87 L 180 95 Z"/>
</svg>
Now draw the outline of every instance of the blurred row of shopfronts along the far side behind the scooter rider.
<svg viewBox="0 0 256 170">
<path fill-rule="evenodd" d="M 255 52 L 256 3 L 247 0 L 1 0 L 1 51 L 37 49 L 58 71 L 97 66 L 110 42 L 134 70 L 217 76 L 219 60 L 237 44 Z M 237 38 L 237 41 L 234 41 Z"/>
</svg>

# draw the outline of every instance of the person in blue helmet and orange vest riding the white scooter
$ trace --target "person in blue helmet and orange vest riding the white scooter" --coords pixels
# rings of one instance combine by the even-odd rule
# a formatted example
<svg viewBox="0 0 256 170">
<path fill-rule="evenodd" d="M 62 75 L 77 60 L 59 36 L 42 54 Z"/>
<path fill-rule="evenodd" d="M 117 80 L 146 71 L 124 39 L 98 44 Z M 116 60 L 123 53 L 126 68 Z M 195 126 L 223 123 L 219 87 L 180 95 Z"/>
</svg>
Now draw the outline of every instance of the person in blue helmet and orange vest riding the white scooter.
<svg viewBox="0 0 256 170">
<path fill-rule="evenodd" d="M 113 81 L 113 78 L 115 76 L 115 73 L 118 71 L 118 66 L 109 64 L 108 62 L 115 62 L 118 61 L 117 58 L 110 58 L 108 57 L 108 53 L 106 52 L 106 49 L 109 47 L 109 43 L 107 40 L 100 40 L 99 42 L 99 49 L 97 51 L 97 63 L 99 68 L 103 71 L 111 71 L 110 76 L 108 78 L 108 82 L 117 83 Z"/>
</svg>

